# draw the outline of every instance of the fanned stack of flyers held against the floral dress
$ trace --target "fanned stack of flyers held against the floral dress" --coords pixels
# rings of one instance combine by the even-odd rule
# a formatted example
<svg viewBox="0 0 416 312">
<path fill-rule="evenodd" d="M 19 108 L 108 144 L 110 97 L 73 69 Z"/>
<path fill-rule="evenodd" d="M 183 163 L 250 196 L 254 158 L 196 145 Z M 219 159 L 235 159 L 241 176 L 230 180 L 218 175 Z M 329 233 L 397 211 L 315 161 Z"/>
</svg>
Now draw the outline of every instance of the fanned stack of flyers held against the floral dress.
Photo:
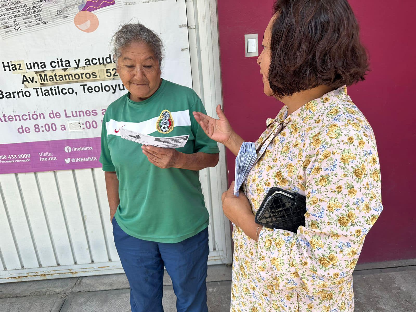
<svg viewBox="0 0 416 312">
<path fill-rule="evenodd" d="M 234 195 L 238 196 L 238 190 L 247 178 L 248 172 L 253 167 L 256 159 L 257 154 L 254 142 L 243 142 L 237 158 L 235 158 Z"/>
</svg>

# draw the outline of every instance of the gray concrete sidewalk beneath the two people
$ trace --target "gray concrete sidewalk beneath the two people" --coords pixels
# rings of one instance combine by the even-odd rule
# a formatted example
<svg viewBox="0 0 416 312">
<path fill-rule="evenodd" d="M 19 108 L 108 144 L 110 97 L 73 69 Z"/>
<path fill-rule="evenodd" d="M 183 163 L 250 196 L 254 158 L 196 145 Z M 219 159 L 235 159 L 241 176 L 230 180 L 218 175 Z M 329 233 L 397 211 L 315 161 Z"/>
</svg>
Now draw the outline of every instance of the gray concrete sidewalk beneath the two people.
<svg viewBox="0 0 416 312">
<path fill-rule="evenodd" d="M 175 312 L 176 297 L 165 272 L 163 307 Z M 230 311 L 231 267 L 208 267 L 210 312 Z M 416 311 L 416 260 L 357 265 L 354 272 L 356 312 Z M 130 311 L 124 274 L 72 277 L 0 284 L 0 312 Z"/>
</svg>

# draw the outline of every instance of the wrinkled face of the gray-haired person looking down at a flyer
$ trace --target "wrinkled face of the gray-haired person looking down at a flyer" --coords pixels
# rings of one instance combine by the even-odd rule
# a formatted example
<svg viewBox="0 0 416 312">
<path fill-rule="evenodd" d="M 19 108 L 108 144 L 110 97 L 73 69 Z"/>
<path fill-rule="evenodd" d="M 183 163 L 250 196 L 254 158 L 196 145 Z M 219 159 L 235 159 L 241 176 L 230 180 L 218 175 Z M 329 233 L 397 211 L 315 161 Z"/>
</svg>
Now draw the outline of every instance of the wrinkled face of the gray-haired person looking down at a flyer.
<svg viewBox="0 0 416 312">
<path fill-rule="evenodd" d="M 121 50 L 117 73 L 135 102 L 151 97 L 161 84 L 159 62 L 144 42 L 133 42 Z"/>
</svg>

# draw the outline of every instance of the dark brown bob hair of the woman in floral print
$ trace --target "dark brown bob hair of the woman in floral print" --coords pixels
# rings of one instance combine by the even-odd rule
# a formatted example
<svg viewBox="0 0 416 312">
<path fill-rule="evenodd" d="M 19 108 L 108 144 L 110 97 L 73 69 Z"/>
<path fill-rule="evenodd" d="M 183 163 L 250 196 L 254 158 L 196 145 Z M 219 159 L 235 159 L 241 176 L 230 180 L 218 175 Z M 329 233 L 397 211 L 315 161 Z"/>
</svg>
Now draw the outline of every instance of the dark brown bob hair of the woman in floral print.
<svg viewBox="0 0 416 312">
<path fill-rule="evenodd" d="M 269 82 L 276 97 L 364 80 L 367 53 L 347 0 L 277 0 L 275 13 Z"/>
</svg>

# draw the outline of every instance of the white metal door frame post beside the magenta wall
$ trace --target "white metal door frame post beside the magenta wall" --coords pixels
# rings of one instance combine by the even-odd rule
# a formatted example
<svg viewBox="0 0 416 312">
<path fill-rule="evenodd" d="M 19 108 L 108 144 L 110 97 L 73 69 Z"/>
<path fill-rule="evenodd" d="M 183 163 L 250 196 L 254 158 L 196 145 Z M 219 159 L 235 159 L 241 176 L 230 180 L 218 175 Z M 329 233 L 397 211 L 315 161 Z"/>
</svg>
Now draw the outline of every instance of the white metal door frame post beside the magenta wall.
<svg viewBox="0 0 416 312">
<path fill-rule="evenodd" d="M 201 97 L 207 114 L 217 116 L 218 104 L 223 107 L 218 15 L 216 0 L 186 0 L 189 53 L 193 90 Z M 215 168 L 207 168 L 210 181 L 211 240 L 220 241 L 218 253 L 211 251 L 208 265 L 232 262 L 230 221 L 222 211 L 221 195 L 228 189 L 225 146 L 218 144 L 220 160 Z M 218 235 L 220 238 L 218 238 Z"/>
</svg>

